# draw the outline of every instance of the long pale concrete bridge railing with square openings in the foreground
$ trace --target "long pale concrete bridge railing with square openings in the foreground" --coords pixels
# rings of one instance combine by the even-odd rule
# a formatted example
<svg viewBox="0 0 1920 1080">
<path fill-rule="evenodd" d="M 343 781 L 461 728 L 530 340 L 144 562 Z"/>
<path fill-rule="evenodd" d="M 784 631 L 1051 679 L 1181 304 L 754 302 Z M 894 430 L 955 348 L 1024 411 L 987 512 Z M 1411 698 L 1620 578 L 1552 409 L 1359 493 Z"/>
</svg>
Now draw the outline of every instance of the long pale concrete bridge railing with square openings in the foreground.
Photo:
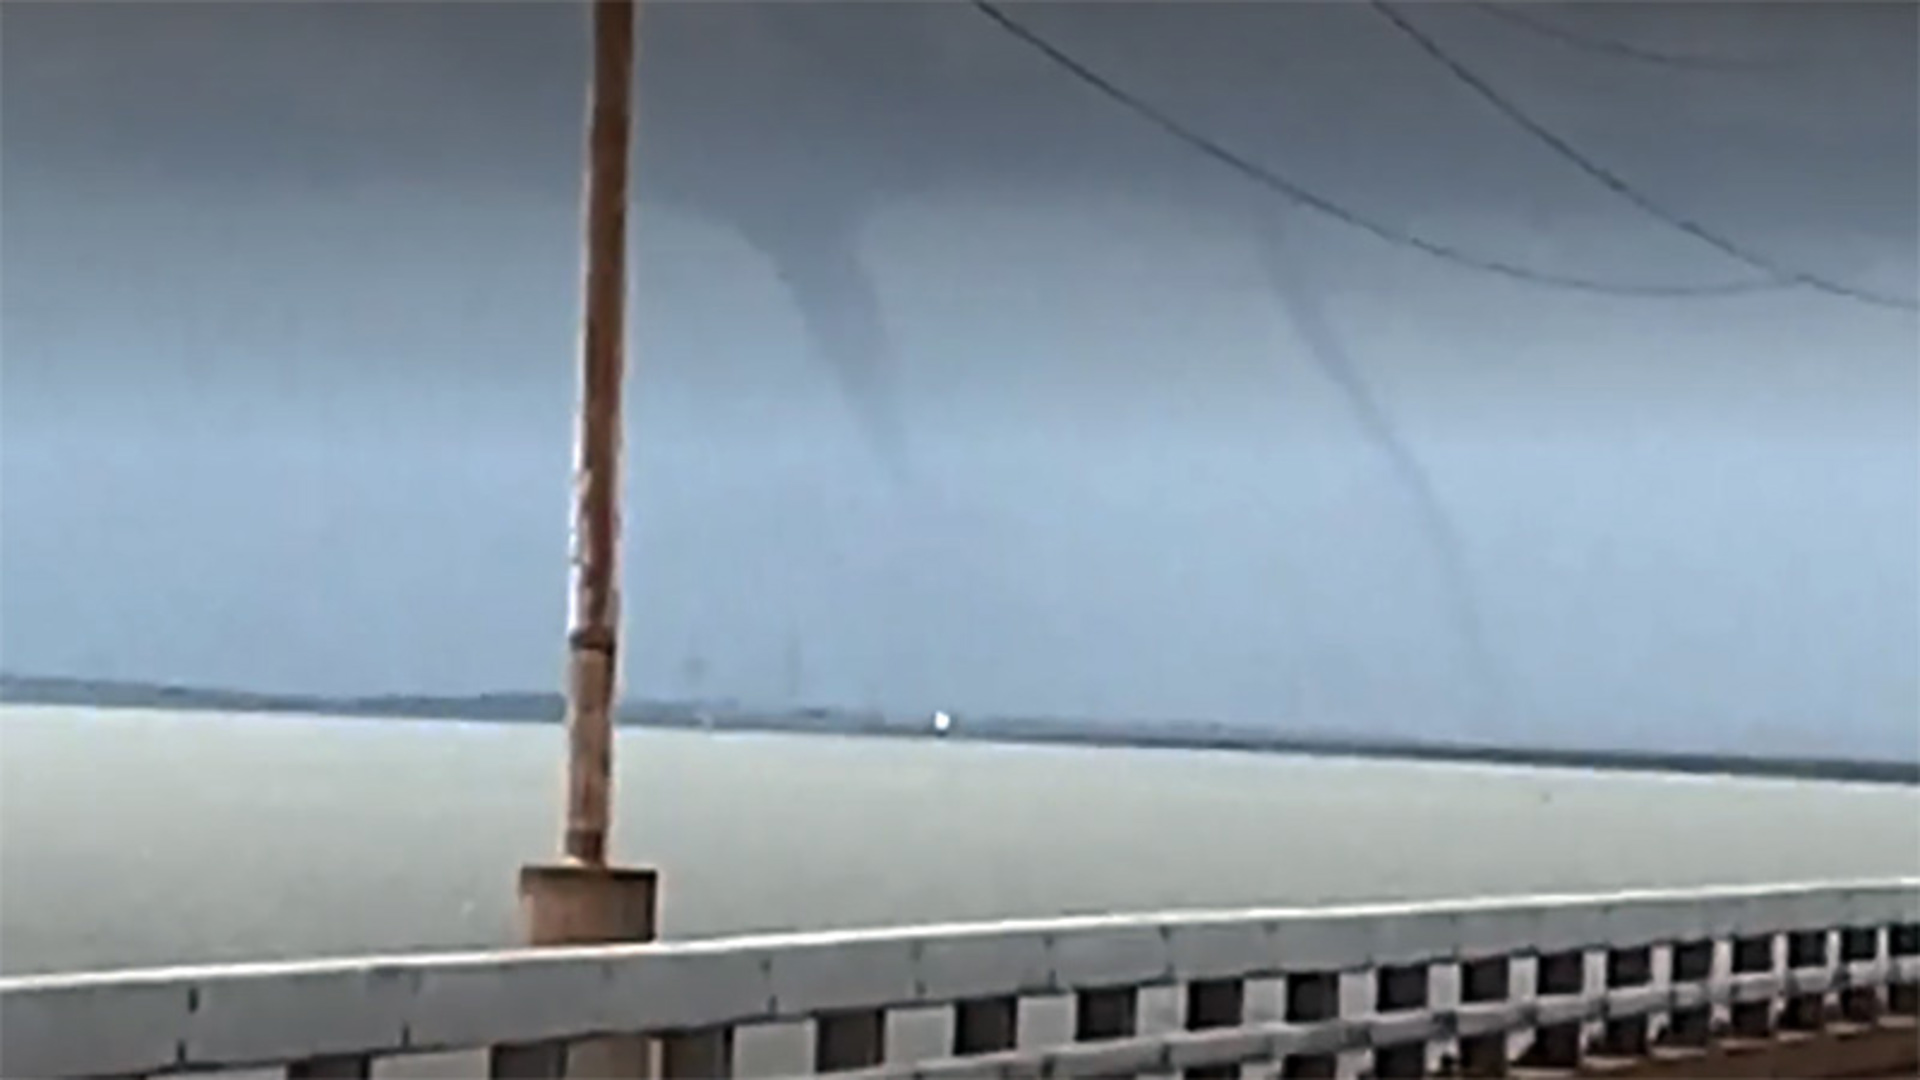
<svg viewBox="0 0 1920 1080">
<path fill-rule="evenodd" d="M 1361 1053 L 1379 1076 L 1498 1074 L 1887 1024 L 1916 982 L 1920 878 L 1190 911 L 6 978 L 0 1074 L 369 1076 L 484 1047 L 493 1076 L 566 1076 L 641 1036 L 655 1074 L 728 1076 L 735 1032 L 776 1022 L 810 1024 L 816 1072 L 866 1076 L 1332 1076 Z M 1144 1030 L 1142 988 L 1177 988 L 1181 1022 Z M 1027 1045 L 1044 997 L 1071 1001 L 1071 1042 Z M 889 1059 L 906 1009 L 945 1013 L 943 1055 Z"/>
</svg>

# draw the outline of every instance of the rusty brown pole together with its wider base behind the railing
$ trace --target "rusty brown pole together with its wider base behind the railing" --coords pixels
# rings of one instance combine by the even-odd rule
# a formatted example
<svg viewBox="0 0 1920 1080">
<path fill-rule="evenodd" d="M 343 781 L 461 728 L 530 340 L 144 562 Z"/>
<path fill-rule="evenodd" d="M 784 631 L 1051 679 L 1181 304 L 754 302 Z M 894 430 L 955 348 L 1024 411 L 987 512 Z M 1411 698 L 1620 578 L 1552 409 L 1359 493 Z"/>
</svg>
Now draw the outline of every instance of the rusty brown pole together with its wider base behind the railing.
<svg viewBox="0 0 1920 1080">
<path fill-rule="evenodd" d="M 626 206 L 636 0 L 593 0 L 586 148 L 586 309 L 574 432 L 572 586 L 566 634 L 566 826 L 559 863 L 520 869 L 528 944 L 655 936 L 651 869 L 607 863 L 620 642 L 620 394 L 626 367 Z M 643 1076 L 643 1040 L 574 1047 L 568 1072 Z M 586 1059 L 586 1061 L 582 1061 Z"/>
</svg>

